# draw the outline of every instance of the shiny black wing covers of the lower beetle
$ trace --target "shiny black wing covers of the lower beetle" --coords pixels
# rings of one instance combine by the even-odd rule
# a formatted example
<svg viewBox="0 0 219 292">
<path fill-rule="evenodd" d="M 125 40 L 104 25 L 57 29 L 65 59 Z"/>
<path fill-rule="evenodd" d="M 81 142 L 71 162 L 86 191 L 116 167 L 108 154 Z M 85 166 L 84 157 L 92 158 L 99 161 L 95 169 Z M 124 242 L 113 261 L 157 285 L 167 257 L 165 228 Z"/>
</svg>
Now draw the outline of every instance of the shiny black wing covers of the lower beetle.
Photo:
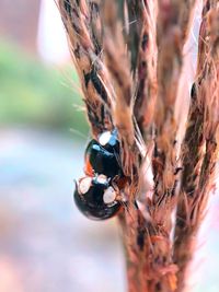
<svg viewBox="0 0 219 292">
<path fill-rule="evenodd" d="M 116 200 L 110 205 L 104 202 L 104 192 L 108 187 L 108 183 L 100 183 L 93 178 L 88 191 L 81 194 L 79 185 L 76 185 L 73 197 L 81 213 L 93 220 L 105 220 L 114 217 L 119 211 L 122 205 Z"/>
</svg>

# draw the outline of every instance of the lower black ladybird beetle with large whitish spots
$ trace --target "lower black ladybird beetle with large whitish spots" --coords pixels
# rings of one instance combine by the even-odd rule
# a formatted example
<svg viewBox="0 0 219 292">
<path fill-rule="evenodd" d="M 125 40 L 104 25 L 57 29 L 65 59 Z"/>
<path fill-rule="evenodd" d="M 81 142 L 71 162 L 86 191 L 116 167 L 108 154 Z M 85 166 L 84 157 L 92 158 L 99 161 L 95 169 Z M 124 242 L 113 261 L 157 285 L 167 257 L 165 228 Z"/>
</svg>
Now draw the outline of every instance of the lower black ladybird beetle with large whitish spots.
<svg viewBox="0 0 219 292">
<path fill-rule="evenodd" d="M 76 184 L 74 202 L 89 219 L 104 220 L 114 217 L 122 208 L 118 192 L 104 175 L 85 176 Z"/>
</svg>

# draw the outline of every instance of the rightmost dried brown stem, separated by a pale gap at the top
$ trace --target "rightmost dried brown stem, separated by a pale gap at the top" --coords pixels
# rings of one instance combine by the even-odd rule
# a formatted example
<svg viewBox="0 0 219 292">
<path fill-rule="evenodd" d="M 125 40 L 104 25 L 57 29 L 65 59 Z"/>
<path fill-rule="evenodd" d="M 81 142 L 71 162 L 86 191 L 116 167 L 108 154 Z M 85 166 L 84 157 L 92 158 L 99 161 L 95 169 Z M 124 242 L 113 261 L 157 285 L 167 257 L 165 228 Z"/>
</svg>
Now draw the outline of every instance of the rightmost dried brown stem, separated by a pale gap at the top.
<svg viewBox="0 0 219 292">
<path fill-rule="evenodd" d="M 182 148 L 183 174 L 174 236 L 174 260 L 178 266 L 177 291 L 182 291 L 185 285 L 186 269 L 194 254 L 195 236 L 212 187 L 218 148 L 219 28 L 215 30 L 214 26 L 216 27 L 216 23 L 219 24 L 217 20 L 219 11 L 216 2 L 204 2 L 197 81 L 192 89 L 192 103 Z M 210 22 L 211 17 L 214 17 L 214 25 L 212 21 Z"/>
</svg>

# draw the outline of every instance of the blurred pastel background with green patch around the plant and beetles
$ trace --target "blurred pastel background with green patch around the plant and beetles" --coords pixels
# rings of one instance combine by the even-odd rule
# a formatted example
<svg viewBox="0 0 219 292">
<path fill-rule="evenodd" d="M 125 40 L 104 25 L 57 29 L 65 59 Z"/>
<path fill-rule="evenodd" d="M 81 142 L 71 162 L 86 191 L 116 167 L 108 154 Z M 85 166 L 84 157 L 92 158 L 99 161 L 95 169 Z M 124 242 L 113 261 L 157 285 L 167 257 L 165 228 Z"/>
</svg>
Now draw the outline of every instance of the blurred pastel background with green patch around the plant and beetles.
<svg viewBox="0 0 219 292">
<path fill-rule="evenodd" d="M 116 220 L 72 200 L 89 139 L 54 0 L 0 0 L 0 292 L 125 292 Z M 191 291 L 219 291 L 214 196 Z"/>
</svg>

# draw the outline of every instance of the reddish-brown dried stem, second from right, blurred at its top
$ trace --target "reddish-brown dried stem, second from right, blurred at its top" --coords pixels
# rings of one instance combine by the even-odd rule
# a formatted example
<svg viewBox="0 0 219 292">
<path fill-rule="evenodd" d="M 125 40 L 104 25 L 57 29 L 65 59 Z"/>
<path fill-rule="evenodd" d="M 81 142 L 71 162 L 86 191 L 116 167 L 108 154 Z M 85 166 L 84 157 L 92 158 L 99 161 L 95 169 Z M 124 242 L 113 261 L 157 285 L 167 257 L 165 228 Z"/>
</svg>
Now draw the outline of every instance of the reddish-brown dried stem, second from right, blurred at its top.
<svg viewBox="0 0 219 292">
<path fill-rule="evenodd" d="M 174 105 L 182 69 L 183 45 L 194 1 L 158 1 L 158 98 L 155 105 L 155 148 L 153 155 L 153 218 L 169 232 L 176 187 L 176 130 Z M 183 15 L 183 16 L 182 16 Z M 187 20 L 187 22 L 182 21 Z M 173 202 L 172 202 L 173 200 Z M 163 215 L 161 209 L 165 211 Z M 163 221 L 164 220 L 164 221 Z M 164 223 L 165 222 L 165 223 Z"/>
</svg>

